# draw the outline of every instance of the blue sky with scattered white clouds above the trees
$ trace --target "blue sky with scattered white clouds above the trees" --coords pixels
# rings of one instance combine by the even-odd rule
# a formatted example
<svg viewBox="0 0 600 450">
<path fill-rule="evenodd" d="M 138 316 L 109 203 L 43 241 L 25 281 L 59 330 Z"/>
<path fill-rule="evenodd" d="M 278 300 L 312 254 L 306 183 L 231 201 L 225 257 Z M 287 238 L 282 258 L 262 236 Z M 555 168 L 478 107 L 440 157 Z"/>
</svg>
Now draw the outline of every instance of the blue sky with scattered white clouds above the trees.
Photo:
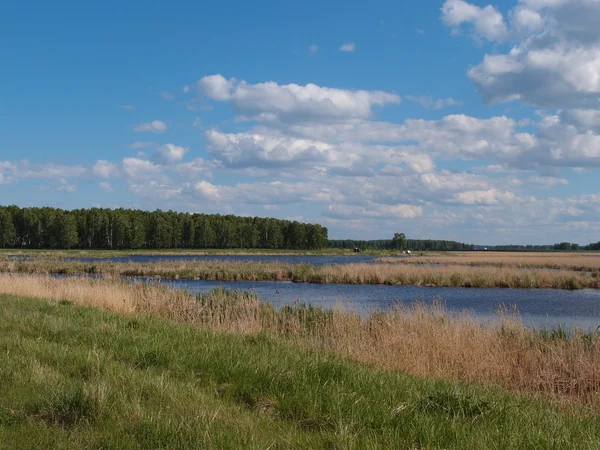
<svg viewBox="0 0 600 450">
<path fill-rule="evenodd" d="M 0 2 L 0 204 L 600 240 L 600 1 Z"/>
</svg>

